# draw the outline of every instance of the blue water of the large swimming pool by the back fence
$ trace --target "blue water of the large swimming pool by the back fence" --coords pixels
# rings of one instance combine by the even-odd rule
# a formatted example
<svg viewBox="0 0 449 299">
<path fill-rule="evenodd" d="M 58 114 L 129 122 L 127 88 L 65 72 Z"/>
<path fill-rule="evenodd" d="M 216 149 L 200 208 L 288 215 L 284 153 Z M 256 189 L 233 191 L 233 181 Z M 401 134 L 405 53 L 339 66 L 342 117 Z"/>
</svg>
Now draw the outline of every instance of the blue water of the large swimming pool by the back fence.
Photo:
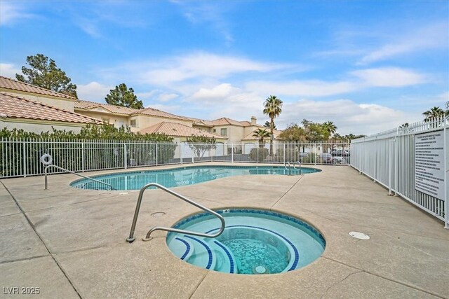
<svg viewBox="0 0 449 299">
<path fill-rule="evenodd" d="M 320 172 L 320 169 L 302 167 L 301 174 Z M 145 172 L 118 172 L 92 176 L 94 179 L 109 183 L 115 190 L 140 190 L 147 183 L 159 183 L 167 188 L 203 183 L 227 176 L 249 174 L 300 174 L 300 171 L 290 167 L 278 166 L 193 166 L 173 169 L 149 170 Z M 108 186 L 88 179 L 79 179 L 70 184 L 75 188 L 104 190 Z"/>
</svg>

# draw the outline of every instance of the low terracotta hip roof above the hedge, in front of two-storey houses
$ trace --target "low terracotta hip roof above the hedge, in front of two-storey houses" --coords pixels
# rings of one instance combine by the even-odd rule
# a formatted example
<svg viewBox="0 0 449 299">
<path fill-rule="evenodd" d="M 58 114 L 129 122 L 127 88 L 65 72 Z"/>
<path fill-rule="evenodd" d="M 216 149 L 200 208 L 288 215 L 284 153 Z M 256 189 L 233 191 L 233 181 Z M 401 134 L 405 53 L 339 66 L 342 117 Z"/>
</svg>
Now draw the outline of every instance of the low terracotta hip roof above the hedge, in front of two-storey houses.
<svg viewBox="0 0 449 299">
<path fill-rule="evenodd" d="M 180 123 L 168 123 L 165 121 L 162 123 L 156 123 L 156 125 L 152 125 L 151 127 L 146 127 L 145 129 L 142 129 L 139 132 L 141 134 L 152 134 L 152 133 L 166 134 L 175 137 L 191 137 L 192 135 L 194 136 L 203 135 L 209 138 L 227 139 L 227 137 L 222 137 L 219 135 L 212 134 L 210 132 L 198 130 L 195 129 L 194 127 L 188 127 L 187 125 L 181 125 Z"/>
</svg>

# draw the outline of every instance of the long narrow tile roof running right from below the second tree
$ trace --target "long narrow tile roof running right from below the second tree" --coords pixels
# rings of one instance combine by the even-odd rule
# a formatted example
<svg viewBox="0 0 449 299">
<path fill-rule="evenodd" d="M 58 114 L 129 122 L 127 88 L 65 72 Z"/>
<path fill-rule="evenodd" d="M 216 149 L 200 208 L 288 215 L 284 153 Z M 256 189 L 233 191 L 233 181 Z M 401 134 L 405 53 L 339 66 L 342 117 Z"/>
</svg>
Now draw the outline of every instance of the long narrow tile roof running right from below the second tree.
<svg viewBox="0 0 449 299">
<path fill-rule="evenodd" d="M 106 109 L 107 111 L 109 111 L 111 113 L 126 114 L 127 116 L 131 116 L 134 114 L 144 114 L 147 116 L 159 116 L 159 117 L 163 117 L 163 118 L 173 118 L 173 119 L 177 119 L 177 120 L 191 120 L 190 118 L 176 116 L 175 114 L 164 112 L 164 111 L 154 109 L 154 108 L 133 109 L 133 108 L 128 108 L 128 107 L 95 103 L 95 102 L 89 102 L 89 101 L 81 101 L 81 100 L 78 100 L 75 102 L 75 109 L 91 110 L 94 108 L 102 108 L 102 109 Z"/>
</svg>

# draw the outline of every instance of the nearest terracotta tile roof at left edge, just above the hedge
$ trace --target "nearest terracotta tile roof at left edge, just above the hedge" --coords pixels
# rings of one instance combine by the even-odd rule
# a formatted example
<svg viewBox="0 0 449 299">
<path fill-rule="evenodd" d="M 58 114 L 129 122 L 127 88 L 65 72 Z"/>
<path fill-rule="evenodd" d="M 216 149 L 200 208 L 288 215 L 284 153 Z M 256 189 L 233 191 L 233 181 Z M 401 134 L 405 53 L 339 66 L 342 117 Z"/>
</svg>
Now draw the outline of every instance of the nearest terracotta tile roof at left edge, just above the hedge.
<svg viewBox="0 0 449 299">
<path fill-rule="evenodd" d="M 5 92 L 0 92 L 0 115 L 7 118 L 53 120 L 67 123 L 102 123 L 96 118 L 82 116 L 72 111 L 16 97 Z"/>
</svg>

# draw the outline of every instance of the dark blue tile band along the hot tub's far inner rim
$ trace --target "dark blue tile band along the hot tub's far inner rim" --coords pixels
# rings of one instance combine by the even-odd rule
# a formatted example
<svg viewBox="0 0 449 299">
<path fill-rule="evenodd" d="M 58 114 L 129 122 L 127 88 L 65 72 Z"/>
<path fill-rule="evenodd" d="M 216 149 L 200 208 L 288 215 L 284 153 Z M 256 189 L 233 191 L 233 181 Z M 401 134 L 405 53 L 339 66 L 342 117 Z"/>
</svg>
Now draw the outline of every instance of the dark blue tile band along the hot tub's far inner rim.
<svg viewBox="0 0 449 299">
<path fill-rule="evenodd" d="M 217 213 L 223 214 L 223 211 L 219 210 L 219 211 L 217 211 Z M 283 219 L 291 221 L 297 225 L 301 225 L 302 227 L 309 230 L 309 232 L 311 232 L 313 235 L 315 235 L 315 237 L 321 243 L 321 246 L 323 246 L 323 249 L 326 247 L 326 239 L 324 239 L 323 235 L 321 235 L 321 233 L 318 230 L 316 230 L 316 228 L 309 225 L 309 223 L 304 222 L 298 218 L 288 216 L 286 214 L 274 212 L 274 211 L 263 210 L 263 209 L 229 209 L 229 214 L 232 214 L 232 213 L 262 214 L 262 215 L 267 215 L 267 216 L 283 218 Z M 173 225 L 173 228 L 180 228 L 182 225 L 185 225 L 189 221 L 194 221 L 198 218 L 202 218 L 202 217 L 206 217 L 206 216 L 210 216 L 210 214 L 207 214 L 207 213 L 194 214 L 194 215 L 189 216 L 189 217 L 183 219 L 182 221 L 176 223 L 175 225 Z"/>
</svg>

